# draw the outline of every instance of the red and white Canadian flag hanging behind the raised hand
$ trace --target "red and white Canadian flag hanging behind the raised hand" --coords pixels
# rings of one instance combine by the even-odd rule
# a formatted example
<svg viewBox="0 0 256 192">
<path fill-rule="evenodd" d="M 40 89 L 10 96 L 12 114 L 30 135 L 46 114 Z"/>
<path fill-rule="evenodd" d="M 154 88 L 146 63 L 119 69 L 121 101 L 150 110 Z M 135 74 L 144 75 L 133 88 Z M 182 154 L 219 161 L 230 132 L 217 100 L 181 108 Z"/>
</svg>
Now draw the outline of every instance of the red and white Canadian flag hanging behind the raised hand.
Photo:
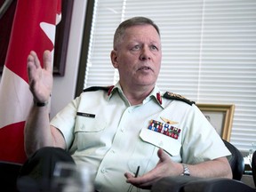
<svg viewBox="0 0 256 192">
<path fill-rule="evenodd" d="M 27 59 L 34 50 L 53 56 L 61 0 L 18 0 L 0 84 L 0 161 L 24 163 L 24 125 L 33 103 L 28 87 Z"/>
</svg>

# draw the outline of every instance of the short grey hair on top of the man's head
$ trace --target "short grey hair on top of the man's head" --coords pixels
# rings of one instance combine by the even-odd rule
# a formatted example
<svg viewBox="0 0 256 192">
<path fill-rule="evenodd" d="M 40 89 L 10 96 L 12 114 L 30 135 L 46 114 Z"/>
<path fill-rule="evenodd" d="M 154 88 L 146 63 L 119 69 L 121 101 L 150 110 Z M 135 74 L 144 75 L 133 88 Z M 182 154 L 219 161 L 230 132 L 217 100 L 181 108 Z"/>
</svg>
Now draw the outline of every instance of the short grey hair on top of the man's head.
<svg viewBox="0 0 256 192">
<path fill-rule="evenodd" d="M 114 49 L 116 49 L 117 44 L 119 44 L 123 39 L 126 28 L 130 28 L 132 26 L 137 26 L 137 25 L 151 25 L 154 28 L 156 28 L 156 32 L 160 36 L 159 28 L 156 26 L 153 20 L 150 20 L 145 17 L 133 17 L 129 20 L 124 20 L 122 23 L 120 23 L 118 28 L 116 28 L 116 33 L 114 35 L 114 43 L 113 43 Z"/>
</svg>

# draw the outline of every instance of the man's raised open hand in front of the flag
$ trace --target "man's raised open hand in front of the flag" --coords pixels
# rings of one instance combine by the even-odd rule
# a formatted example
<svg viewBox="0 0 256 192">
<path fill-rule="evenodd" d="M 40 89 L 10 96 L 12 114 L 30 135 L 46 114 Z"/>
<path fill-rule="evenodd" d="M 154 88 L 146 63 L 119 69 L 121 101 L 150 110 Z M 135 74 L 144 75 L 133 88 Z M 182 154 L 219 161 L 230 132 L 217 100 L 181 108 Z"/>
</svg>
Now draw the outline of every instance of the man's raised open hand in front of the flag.
<svg viewBox="0 0 256 192">
<path fill-rule="evenodd" d="M 28 55 L 28 81 L 29 89 L 36 102 L 47 102 L 52 92 L 52 55 L 49 51 L 44 51 L 44 68 L 40 65 L 40 60 L 36 52 L 31 51 Z"/>
</svg>

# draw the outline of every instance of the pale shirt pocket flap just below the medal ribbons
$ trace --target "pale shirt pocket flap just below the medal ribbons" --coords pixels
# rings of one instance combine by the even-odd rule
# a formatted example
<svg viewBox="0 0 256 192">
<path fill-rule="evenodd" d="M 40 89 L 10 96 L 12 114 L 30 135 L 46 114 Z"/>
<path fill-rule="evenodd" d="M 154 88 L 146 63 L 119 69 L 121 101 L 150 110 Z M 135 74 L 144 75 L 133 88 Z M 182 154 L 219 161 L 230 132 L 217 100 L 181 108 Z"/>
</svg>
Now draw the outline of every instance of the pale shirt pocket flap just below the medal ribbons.
<svg viewBox="0 0 256 192">
<path fill-rule="evenodd" d="M 180 156 L 180 140 L 173 139 L 160 132 L 154 132 L 148 128 L 141 130 L 140 138 L 158 148 L 163 148 L 171 156 Z"/>
</svg>

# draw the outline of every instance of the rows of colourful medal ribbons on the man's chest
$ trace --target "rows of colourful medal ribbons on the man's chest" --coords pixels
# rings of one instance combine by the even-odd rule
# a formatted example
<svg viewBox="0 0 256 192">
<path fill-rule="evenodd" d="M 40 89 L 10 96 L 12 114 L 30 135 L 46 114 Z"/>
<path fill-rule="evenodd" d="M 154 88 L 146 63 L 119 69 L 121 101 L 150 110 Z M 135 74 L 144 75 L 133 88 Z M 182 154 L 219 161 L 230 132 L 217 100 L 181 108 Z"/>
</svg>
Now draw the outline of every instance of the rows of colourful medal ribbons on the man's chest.
<svg viewBox="0 0 256 192">
<path fill-rule="evenodd" d="M 151 120 L 148 125 L 148 129 L 154 132 L 162 133 L 168 137 L 172 137 L 177 140 L 179 138 L 181 130 L 177 127 L 172 126 L 171 124 L 164 124 L 162 122 Z"/>
</svg>

